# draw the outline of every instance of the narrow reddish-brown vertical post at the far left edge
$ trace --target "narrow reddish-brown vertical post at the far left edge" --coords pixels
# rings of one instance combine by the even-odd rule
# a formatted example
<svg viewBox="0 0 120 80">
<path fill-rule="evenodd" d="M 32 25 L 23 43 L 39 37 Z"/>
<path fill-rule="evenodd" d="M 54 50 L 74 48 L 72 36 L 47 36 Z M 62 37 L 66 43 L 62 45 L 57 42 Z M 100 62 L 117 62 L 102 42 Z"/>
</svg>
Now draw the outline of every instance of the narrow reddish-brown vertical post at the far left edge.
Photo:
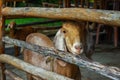
<svg viewBox="0 0 120 80">
<path fill-rule="evenodd" d="M 2 37 L 4 35 L 4 23 L 5 23 L 5 19 L 3 18 L 3 16 L 1 15 L 1 11 L 3 8 L 3 0 L 0 0 L 0 55 L 4 54 L 4 43 L 2 42 Z M 5 64 L 4 63 L 0 63 L 0 67 L 1 67 L 1 80 L 6 80 L 6 76 L 4 74 L 5 71 Z"/>
</svg>

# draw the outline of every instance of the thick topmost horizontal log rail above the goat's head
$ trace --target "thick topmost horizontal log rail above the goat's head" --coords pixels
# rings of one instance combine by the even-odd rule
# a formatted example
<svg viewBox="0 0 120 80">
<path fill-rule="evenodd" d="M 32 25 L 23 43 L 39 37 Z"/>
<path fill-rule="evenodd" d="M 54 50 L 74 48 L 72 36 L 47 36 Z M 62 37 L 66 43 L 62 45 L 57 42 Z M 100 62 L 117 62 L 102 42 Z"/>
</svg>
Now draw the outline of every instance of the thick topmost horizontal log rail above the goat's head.
<svg viewBox="0 0 120 80">
<path fill-rule="evenodd" d="M 3 16 L 43 17 L 62 20 L 91 21 L 106 25 L 120 26 L 120 11 L 84 8 L 40 8 L 23 7 L 2 9 Z"/>
</svg>

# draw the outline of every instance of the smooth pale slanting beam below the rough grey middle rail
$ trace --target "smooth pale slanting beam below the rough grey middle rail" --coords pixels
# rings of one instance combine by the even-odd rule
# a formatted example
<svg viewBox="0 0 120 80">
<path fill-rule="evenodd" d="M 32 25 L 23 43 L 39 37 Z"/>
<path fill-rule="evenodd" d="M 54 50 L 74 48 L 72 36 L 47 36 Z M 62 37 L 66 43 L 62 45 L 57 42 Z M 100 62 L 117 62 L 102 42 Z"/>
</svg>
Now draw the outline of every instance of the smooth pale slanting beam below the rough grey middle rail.
<svg viewBox="0 0 120 80">
<path fill-rule="evenodd" d="M 14 67 L 20 70 L 26 71 L 34 76 L 41 77 L 45 80 L 73 80 L 62 75 L 56 74 L 54 72 L 50 72 L 42 68 L 33 66 L 10 55 L 1 54 L 0 61 L 13 65 Z"/>
</svg>

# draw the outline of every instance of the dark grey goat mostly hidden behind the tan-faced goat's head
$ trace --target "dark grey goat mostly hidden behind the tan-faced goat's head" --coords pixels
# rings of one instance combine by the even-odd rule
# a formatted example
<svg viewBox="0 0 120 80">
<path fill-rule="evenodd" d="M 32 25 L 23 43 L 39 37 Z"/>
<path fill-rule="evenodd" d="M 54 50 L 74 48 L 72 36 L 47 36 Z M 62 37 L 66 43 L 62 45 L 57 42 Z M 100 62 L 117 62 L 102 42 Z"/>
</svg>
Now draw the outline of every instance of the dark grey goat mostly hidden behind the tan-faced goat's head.
<svg viewBox="0 0 120 80">
<path fill-rule="evenodd" d="M 92 55 L 95 49 L 95 40 L 93 39 L 95 23 L 87 22 L 86 24 L 86 45 L 84 53 L 88 59 L 92 60 Z"/>
</svg>

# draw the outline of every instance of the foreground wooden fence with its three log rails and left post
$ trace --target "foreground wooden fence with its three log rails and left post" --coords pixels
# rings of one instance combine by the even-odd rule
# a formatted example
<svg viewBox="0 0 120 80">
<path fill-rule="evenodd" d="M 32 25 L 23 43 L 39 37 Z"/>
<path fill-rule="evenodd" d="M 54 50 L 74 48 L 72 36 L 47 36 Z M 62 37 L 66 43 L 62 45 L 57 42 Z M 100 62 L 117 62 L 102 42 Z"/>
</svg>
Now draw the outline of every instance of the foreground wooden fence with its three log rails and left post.
<svg viewBox="0 0 120 80">
<path fill-rule="evenodd" d="M 20 16 L 20 17 L 43 17 L 43 18 L 51 18 L 51 19 L 59 19 L 59 20 L 83 20 L 83 21 L 91 21 L 91 22 L 97 22 L 97 23 L 103 23 L 103 24 L 107 24 L 107 25 L 115 25 L 115 26 L 120 26 L 120 12 L 119 11 L 107 11 L 107 10 L 95 10 L 95 9 L 83 9 L 83 8 L 38 8 L 38 7 L 23 7 L 23 8 L 10 8 L 10 7 L 2 7 L 3 3 L 2 0 L 0 1 L 0 61 L 5 62 L 5 63 L 9 63 L 11 65 L 14 65 L 17 68 L 20 68 L 18 66 L 18 63 L 15 62 L 18 59 L 14 58 L 14 60 L 12 60 L 11 58 L 13 58 L 12 56 L 8 56 L 4 54 L 4 42 L 7 43 L 12 43 L 15 45 L 18 45 L 20 47 L 24 47 L 24 48 L 28 48 L 30 50 L 36 51 L 38 53 L 42 52 L 45 55 L 50 55 L 50 56 L 54 56 L 57 57 L 59 59 L 62 59 L 64 61 L 67 61 L 69 63 L 78 65 L 80 67 L 85 67 L 89 70 L 93 70 L 101 75 L 104 75 L 106 77 L 109 77 L 111 79 L 114 80 L 120 80 L 120 69 L 116 68 L 116 67 L 107 67 L 104 66 L 98 62 L 94 62 L 94 61 L 89 61 L 86 59 L 82 59 L 81 57 L 77 58 L 74 57 L 73 55 L 69 54 L 66 55 L 64 52 L 57 52 L 58 55 L 55 55 L 55 51 L 52 49 L 48 49 L 48 48 L 44 48 L 41 46 L 36 46 L 36 45 L 32 45 L 32 44 L 28 44 L 28 43 L 24 43 L 15 39 L 10 39 L 10 38 L 5 38 L 4 36 L 4 23 L 5 23 L 5 18 L 10 16 L 10 17 L 16 17 L 16 16 Z M 94 16 L 93 16 L 94 15 Z M 35 48 L 34 48 L 35 47 Z M 38 50 L 39 49 L 39 50 Z M 64 54 L 64 56 L 61 56 Z M 7 60 L 7 59 L 11 59 Z M 10 62 L 9 62 L 10 61 Z M 20 60 L 18 60 L 19 62 Z M 74 63 L 73 63 L 74 62 Z M 15 64 L 13 64 L 15 63 Z M 22 64 L 27 65 L 27 63 L 22 62 Z M 30 64 L 28 64 L 30 65 Z M 30 67 L 34 67 L 36 69 L 35 66 L 30 65 Z M 22 67 L 20 68 L 21 70 L 24 70 L 28 73 L 31 73 L 33 75 L 36 76 L 41 76 L 43 75 L 39 69 L 38 72 L 29 72 L 30 70 L 28 70 L 29 67 L 25 69 L 23 69 Z M 30 69 L 30 68 L 29 68 Z M 2 78 L 1 80 L 6 80 L 5 78 L 5 66 L 4 63 L 1 63 L 1 70 L 2 70 Z M 46 71 L 45 71 L 46 72 Z M 38 74 L 39 75 L 38 75 Z M 50 72 L 51 74 L 55 74 Z M 47 75 L 47 73 L 46 73 Z M 58 74 L 55 74 L 58 75 Z M 44 75 L 45 76 L 45 75 Z M 43 77 L 44 77 L 43 76 Z M 64 76 L 58 75 L 60 76 L 59 80 L 70 80 Z M 48 78 L 50 80 L 56 80 L 56 78 L 53 78 L 54 76 L 51 75 L 51 78 Z"/>
</svg>

